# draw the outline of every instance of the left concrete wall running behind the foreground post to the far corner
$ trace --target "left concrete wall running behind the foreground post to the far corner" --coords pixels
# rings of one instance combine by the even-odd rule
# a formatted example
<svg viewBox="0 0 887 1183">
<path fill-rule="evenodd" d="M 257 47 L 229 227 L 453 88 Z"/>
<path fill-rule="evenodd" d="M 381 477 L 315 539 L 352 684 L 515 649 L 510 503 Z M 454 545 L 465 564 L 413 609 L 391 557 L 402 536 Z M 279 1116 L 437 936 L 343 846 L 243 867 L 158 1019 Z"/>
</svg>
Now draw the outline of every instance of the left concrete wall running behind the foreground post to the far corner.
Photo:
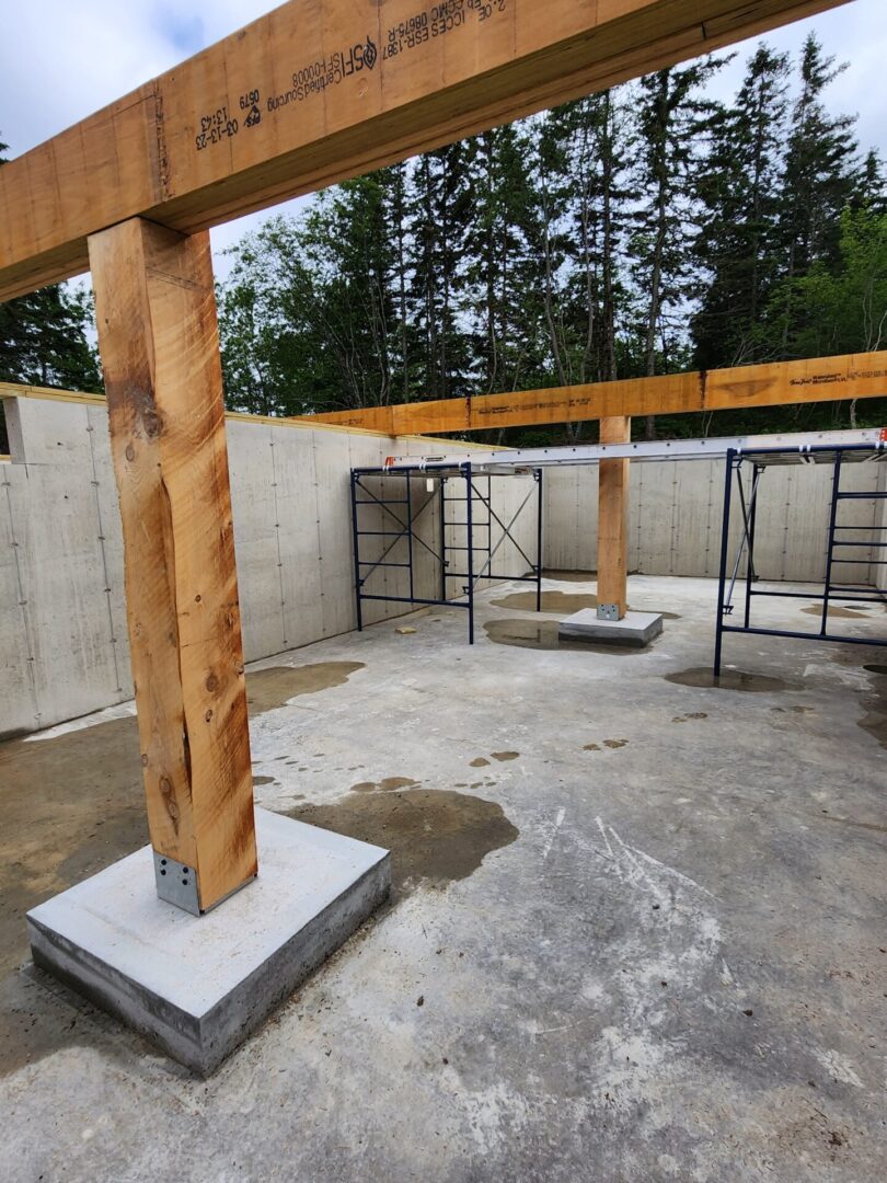
<svg viewBox="0 0 887 1183">
<path fill-rule="evenodd" d="M 40 399 L 8 399 L 4 407 L 12 463 L 0 464 L 0 735 L 51 726 L 132 697 L 106 412 L 88 402 Z M 349 473 L 404 451 L 421 454 L 423 445 L 228 421 L 247 660 L 356 627 Z M 526 480 L 500 484 L 496 509 L 507 519 Z M 423 481 L 414 481 L 414 510 L 427 496 L 423 490 Z M 432 550 L 440 549 L 439 522 L 432 506 L 416 529 Z M 387 511 L 374 506 L 362 510 L 362 525 L 397 529 Z M 529 519 L 518 537 L 530 529 L 535 543 Z M 371 542 L 363 542 L 367 557 L 375 557 Z M 523 545 L 531 554 L 527 539 Z M 415 594 L 436 599 L 438 564 L 421 544 L 414 547 Z M 402 541 L 388 557 L 406 562 L 406 556 Z M 408 573 L 381 569 L 374 590 L 408 596 Z M 457 594 L 449 584 L 448 595 Z M 408 610 L 404 603 L 370 602 L 364 621 Z"/>
</svg>

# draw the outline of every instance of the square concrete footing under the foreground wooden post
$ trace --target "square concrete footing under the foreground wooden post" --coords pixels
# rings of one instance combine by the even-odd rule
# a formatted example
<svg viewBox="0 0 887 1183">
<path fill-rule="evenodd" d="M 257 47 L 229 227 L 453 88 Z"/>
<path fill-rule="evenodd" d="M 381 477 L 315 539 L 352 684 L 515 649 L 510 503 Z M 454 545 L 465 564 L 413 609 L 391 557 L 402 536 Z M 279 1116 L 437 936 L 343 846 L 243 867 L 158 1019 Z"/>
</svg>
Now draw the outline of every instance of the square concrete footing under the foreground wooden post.
<svg viewBox="0 0 887 1183">
<path fill-rule="evenodd" d="M 208 1075 L 388 894 L 377 846 L 255 812 L 259 875 L 206 916 L 157 898 L 149 846 L 27 914 L 38 965 Z"/>
</svg>

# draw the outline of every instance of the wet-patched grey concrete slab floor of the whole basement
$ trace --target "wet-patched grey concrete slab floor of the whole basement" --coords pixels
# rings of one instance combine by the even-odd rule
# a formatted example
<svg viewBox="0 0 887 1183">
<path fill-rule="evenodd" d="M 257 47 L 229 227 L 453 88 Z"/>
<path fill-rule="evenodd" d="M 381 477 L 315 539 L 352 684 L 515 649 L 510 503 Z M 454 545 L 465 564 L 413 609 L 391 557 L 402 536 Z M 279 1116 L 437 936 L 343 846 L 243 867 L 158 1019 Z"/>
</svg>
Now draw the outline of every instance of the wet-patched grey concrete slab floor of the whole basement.
<svg viewBox="0 0 887 1183">
<path fill-rule="evenodd" d="M 712 689 L 711 581 L 632 578 L 645 651 L 507 593 L 253 673 L 259 802 L 396 886 L 209 1081 L 14 968 L 144 841 L 131 718 L 0 748 L 0 1177 L 882 1178 L 885 652 L 729 638 Z"/>
</svg>

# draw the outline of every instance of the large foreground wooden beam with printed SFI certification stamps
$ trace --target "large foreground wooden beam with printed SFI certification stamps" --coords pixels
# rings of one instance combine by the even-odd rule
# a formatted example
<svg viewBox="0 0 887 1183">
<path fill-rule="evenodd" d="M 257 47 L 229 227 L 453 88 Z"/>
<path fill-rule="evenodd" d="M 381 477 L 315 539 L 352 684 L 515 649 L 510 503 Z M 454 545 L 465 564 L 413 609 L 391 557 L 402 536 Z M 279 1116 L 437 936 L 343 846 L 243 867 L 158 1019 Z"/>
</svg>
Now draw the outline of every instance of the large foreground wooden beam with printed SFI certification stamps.
<svg viewBox="0 0 887 1183">
<path fill-rule="evenodd" d="M 0 299 L 847 0 L 290 0 L 0 168 Z"/>
</svg>

